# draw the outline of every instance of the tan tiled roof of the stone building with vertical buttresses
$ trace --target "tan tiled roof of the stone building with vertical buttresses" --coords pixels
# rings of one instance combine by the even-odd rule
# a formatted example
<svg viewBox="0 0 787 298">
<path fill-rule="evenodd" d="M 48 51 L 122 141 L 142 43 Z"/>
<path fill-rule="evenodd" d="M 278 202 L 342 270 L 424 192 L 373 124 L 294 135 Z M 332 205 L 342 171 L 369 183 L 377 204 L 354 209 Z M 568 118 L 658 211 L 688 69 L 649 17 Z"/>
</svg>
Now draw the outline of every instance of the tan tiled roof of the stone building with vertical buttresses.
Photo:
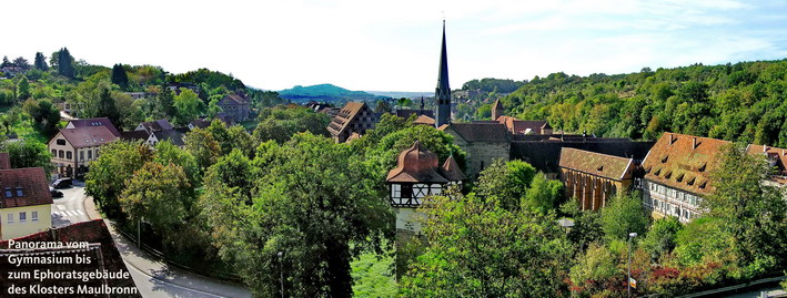
<svg viewBox="0 0 787 298">
<path fill-rule="evenodd" d="M 561 167 L 584 172 L 614 181 L 630 178 L 633 158 L 624 158 L 584 150 L 563 147 Z"/>
</svg>

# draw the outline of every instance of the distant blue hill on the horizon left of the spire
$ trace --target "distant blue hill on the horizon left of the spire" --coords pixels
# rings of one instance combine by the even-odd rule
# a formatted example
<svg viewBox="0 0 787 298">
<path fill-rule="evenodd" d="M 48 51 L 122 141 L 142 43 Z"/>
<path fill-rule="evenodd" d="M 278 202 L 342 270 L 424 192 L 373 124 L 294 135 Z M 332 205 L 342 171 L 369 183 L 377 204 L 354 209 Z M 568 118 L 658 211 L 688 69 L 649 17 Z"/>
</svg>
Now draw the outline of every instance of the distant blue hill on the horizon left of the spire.
<svg viewBox="0 0 787 298">
<path fill-rule="evenodd" d="M 296 85 L 292 89 L 279 91 L 279 95 L 294 102 L 345 102 L 389 99 L 389 96 L 379 96 L 364 91 L 351 91 L 333 84 L 319 84 L 311 86 Z"/>
</svg>

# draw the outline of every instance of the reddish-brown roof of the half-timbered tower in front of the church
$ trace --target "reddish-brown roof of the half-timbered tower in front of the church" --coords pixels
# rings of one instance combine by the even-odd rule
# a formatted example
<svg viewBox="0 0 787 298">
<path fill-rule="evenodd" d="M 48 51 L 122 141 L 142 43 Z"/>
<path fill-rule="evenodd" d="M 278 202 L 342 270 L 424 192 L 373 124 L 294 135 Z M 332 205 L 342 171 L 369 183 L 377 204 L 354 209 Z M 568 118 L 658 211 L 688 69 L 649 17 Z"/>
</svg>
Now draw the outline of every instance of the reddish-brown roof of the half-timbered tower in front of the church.
<svg viewBox="0 0 787 298">
<path fill-rule="evenodd" d="M 398 154 L 398 163 L 389 172 L 385 182 L 389 183 L 447 183 L 437 166 L 437 155 L 422 148 L 421 142 Z"/>
</svg>

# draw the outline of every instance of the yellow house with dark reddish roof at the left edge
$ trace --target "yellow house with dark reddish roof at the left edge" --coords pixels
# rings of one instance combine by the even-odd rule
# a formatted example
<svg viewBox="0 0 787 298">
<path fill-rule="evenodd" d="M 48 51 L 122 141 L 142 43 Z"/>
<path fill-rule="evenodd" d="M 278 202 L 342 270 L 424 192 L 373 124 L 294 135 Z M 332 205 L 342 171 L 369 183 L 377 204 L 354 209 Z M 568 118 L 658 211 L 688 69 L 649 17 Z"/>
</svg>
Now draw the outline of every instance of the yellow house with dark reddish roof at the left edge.
<svg viewBox="0 0 787 298">
<path fill-rule="evenodd" d="M 41 167 L 0 169 L 0 239 L 42 232 L 52 225 L 52 195 Z"/>
</svg>

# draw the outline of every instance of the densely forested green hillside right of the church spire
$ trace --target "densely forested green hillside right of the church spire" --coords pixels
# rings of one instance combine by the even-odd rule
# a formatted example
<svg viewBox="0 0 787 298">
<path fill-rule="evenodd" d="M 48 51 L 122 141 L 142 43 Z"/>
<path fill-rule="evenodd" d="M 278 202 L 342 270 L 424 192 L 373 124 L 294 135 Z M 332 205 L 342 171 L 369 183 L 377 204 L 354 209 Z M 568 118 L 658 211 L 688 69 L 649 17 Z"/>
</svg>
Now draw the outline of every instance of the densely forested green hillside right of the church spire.
<svg viewBox="0 0 787 298">
<path fill-rule="evenodd" d="M 655 138 L 662 132 L 787 146 L 787 60 L 629 74 L 536 76 L 503 99 L 509 115 L 565 132 Z"/>
</svg>

